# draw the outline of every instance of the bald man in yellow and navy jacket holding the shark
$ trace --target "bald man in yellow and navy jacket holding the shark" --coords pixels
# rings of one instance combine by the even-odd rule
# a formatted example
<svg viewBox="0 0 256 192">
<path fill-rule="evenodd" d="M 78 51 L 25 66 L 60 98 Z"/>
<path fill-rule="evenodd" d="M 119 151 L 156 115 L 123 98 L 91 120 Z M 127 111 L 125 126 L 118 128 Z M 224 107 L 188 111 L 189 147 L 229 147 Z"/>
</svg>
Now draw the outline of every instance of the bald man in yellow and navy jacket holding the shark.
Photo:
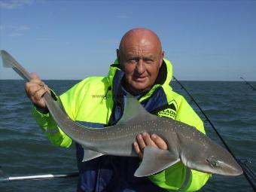
<svg viewBox="0 0 256 192">
<path fill-rule="evenodd" d="M 117 60 L 107 77 L 91 77 L 59 96 L 50 91 L 37 75 L 26 83 L 26 93 L 35 105 L 32 114 L 54 145 L 69 147 L 72 140 L 58 128 L 41 96 L 46 91 L 62 102 L 72 120 L 91 127 L 111 126 L 123 114 L 126 94 L 136 96 L 151 114 L 170 117 L 197 127 L 204 133 L 203 122 L 184 98 L 172 91 L 172 64 L 163 59 L 160 39 L 148 29 L 132 29 L 123 35 Z M 175 163 L 163 172 L 136 178 L 134 172 L 146 145 L 163 150 L 166 142 L 159 136 L 139 134 L 133 143 L 139 157 L 102 156 L 82 163 L 84 151 L 76 144 L 79 169 L 78 191 L 167 191 L 198 190 L 209 174 L 187 169 Z M 118 148 L 118 146 L 117 146 Z"/>
</svg>

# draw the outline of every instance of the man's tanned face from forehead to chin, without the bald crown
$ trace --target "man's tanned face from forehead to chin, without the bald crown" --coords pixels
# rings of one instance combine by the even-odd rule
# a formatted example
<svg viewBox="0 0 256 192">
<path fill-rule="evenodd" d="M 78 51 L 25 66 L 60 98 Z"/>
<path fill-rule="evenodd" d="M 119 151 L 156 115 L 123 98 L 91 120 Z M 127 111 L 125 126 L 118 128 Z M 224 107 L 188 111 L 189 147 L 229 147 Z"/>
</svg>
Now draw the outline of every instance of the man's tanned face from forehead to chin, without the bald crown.
<svg viewBox="0 0 256 192">
<path fill-rule="evenodd" d="M 133 38 L 117 50 L 117 57 L 129 90 L 138 94 L 151 89 L 163 62 L 163 53 L 154 41 Z"/>
</svg>

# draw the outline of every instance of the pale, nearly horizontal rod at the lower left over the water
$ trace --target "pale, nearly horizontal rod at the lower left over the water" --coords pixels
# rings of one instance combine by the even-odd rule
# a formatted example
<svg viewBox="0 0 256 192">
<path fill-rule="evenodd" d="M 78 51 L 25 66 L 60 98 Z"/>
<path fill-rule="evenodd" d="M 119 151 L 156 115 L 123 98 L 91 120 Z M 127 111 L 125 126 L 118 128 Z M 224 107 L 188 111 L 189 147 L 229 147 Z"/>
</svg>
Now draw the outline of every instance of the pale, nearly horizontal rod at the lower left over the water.
<svg viewBox="0 0 256 192">
<path fill-rule="evenodd" d="M 13 177 L 2 177 L 0 182 L 5 181 L 28 181 L 28 180 L 44 180 L 44 179 L 54 179 L 54 178 L 73 178 L 78 177 L 78 172 L 55 172 L 42 175 L 23 175 L 23 176 L 13 176 Z"/>
</svg>

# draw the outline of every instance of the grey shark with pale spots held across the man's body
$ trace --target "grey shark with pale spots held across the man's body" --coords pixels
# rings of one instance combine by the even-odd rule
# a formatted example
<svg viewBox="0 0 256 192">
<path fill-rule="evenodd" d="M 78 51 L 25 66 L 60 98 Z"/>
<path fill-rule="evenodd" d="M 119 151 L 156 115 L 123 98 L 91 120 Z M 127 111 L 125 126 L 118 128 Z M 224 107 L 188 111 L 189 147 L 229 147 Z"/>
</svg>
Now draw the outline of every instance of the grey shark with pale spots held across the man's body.
<svg viewBox="0 0 256 192">
<path fill-rule="evenodd" d="M 31 76 L 7 51 L 1 50 L 3 66 L 14 69 L 24 80 Z M 219 175 L 241 175 L 242 168 L 221 145 L 194 126 L 167 117 L 150 114 L 137 99 L 128 95 L 123 116 L 114 126 L 92 128 L 75 123 L 66 114 L 61 103 L 49 93 L 43 96 L 47 108 L 59 128 L 84 148 L 83 161 L 102 155 L 137 157 L 133 149 L 136 136 L 141 133 L 157 134 L 167 143 L 168 150 L 146 146 L 142 163 L 134 175 L 153 175 L 181 161 L 184 166 L 200 172 Z"/>
</svg>

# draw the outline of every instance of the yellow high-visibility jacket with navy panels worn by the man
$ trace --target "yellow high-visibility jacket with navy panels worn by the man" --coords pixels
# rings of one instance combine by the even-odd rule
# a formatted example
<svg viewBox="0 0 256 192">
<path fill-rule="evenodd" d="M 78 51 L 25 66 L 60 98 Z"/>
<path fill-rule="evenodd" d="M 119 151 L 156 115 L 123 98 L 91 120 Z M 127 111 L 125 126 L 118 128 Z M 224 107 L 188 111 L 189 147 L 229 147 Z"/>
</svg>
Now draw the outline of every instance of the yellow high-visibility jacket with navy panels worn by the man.
<svg viewBox="0 0 256 192">
<path fill-rule="evenodd" d="M 62 105 L 72 120 L 92 127 L 109 126 L 110 124 L 117 123 L 117 120 L 120 119 L 122 114 L 124 105 L 122 99 L 122 89 L 120 88 L 120 82 L 122 78 L 123 72 L 120 70 L 119 64 L 116 61 L 113 65 L 110 66 L 108 76 L 85 78 L 66 93 L 63 93 L 61 96 L 56 98 L 62 102 Z M 163 59 L 163 65 L 161 66 L 154 87 L 152 87 L 151 90 L 145 93 L 143 96 L 139 96 L 139 102 L 141 102 L 147 111 L 150 111 L 152 114 L 179 120 L 189 124 L 190 126 L 195 126 L 197 130 L 205 133 L 203 121 L 200 120 L 200 117 L 198 117 L 198 115 L 190 107 L 184 97 L 172 90 L 172 87 L 169 85 L 171 80 L 172 64 L 167 59 Z M 61 147 L 68 148 L 72 144 L 72 139 L 70 139 L 69 136 L 66 136 L 66 134 L 59 129 L 49 113 L 43 114 L 36 108 L 33 108 L 32 114 L 35 117 L 35 120 L 41 126 L 44 134 L 47 136 L 50 142 L 53 143 L 53 145 L 59 145 Z M 92 177 L 92 172 L 90 172 L 91 169 L 88 167 L 81 168 L 84 164 L 81 163 L 81 155 L 79 156 L 79 153 L 80 152 L 78 149 L 78 168 L 81 172 L 79 178 L 81 185 L 80 188 L 87 189 L 89 191 L 90 189 L 93 189 L 93 187 L 97 187 L 98 189 L 100 187 L 104 187 L 104 184 L 100 184 L 97 178 L 93 178 L 92 180 L 88 178 Z M 108 161 L 104 159 L 108 157 L 98 158 L 102 158 L 102 162 Z M 127 158 L 137 157 L 126 157 L 126 159 Z M 136 169 L 139 166 L 139 158 L 136 160 L 136 163 L 134 163 L 133 160 L 133 164 L 134 169 Z M 93 167 L 94 165 L 87 164 L 86 166 Z M 130 188 L 133 188 L 133 185 L 136 186 L 139 184 L 144 184 L 144 181 L 142 182 L 142 180 L 136 180 L 139 178 L 135 178 L 133 175 L 129 175 L 133 174 L 133 172 L 125 170 L 126 168 L 122 169 L 124 169 L 122 172 L 123 175 L 126 175 L 126 178 L 123 179 L 127 179 L 127 181 L 125 181 L 127 186 L 130 184 Z M 99 174 L 99 170 L 94 170 L 94 172 Z M 108 173 L 106 173 L 106 175 L 108 175 Z M 109 172 L 109 175 L 111 175 L 111 171 Z M 120 175 L 118 179 L 122 179 L 123 175 Z M 188 169 L 181 162 L 178 162 L 175 163 L 175 165 L 170 166 L 168 169 L 165 169 L 163 172 L 151 175 L 148 178 L 144 178 L 149 182 L 151 181 L 150 183 L 154 186 L 157 186 L 157 189 L 153 190 L 153 187 L 150 186 L 151 184 L 148 184 L 148 181 L 145 181 L 145 190 L 138 190 L 136 187 L 134 187 L 134 190 L 162 191 L 160 189 L 165 189 L 170 191 L 194 191 L 203 187 L 203 185 L 206 184 L 209 176 L 210 174 Z M 83 177 L 86 177 L 87 180 L 83 180 Z M 97 177 L 99 178 L 99 175 L 97 175 Z M 128 181 L 129 179 L 130 181 Z M 139 182 L 136 183 L 137 181 Z M 94 185 L 90 186 L 92 183 Z"/>
</svg>

